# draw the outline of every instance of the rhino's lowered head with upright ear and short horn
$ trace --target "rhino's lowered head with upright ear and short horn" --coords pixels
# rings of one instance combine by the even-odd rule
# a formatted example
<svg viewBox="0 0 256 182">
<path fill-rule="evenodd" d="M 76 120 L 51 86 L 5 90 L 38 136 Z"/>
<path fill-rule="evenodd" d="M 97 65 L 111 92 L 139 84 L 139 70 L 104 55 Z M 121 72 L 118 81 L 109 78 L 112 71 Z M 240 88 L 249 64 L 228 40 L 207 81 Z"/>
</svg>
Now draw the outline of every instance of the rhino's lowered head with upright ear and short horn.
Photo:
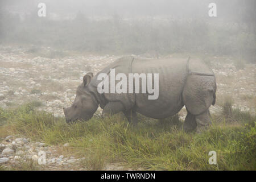
<svg viewBox="0 0 256 182">
<path fill-rule="evenodd" d="M 89 90 L 90 80 L 93 73 L 87 73 L 83 82 L 77 87 L 76 98 L 70 107 L 63 107 L 66 122 L 73 122 L 77 119 L 88 121 L 98 108 L 98 102 Z"/>
</svg>

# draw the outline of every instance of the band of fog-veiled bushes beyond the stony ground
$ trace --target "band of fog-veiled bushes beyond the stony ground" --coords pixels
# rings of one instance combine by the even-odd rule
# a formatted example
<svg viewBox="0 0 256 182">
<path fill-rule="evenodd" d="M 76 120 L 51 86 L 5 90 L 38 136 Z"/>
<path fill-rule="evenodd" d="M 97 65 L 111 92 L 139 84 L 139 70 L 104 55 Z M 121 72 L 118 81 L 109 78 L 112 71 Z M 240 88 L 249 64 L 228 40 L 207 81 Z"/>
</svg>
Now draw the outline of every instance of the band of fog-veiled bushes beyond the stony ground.
<svg viewBox="0 0 256 182">
<path fill-rule="evenodd" d="M 250 63 L 254 63 L 256 57 L 256 35 L 241 22 L 124 20 L 118 17 L 90 20 L 85 16 L 73 20 L 50 20 L 30 16 L 22 22 L 11 14 L 2 16 L 2 24 L 6 24 L 1 27 L 1 34 L 5 35 L 2 43 L 56 48 L 55 51 L 40 51 L 38 48 L 28 51 L 48 58 L 67 56 L 63 50 L 113 54 L 154 52 L 156 55 L 213 53 L 241 55 Z"/>
</svg>

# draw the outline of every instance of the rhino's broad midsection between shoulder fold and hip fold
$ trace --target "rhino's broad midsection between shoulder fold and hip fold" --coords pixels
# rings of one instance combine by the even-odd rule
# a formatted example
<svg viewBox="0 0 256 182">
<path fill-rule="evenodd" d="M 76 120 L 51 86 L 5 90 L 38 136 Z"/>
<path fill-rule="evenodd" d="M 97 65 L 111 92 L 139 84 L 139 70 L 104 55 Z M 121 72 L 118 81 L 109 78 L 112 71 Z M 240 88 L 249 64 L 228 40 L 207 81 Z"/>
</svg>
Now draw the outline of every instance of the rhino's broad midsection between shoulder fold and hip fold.
<svg viewBox="0 0 256 182">
<path fill-rule="evenodd" d="M 148 100 L 148 93 L 136 94 L 135 105 L 139 113 L 151 118 L 166 118 L 183 107 L 181 93 L 187 77 L 186 59 L 134 59 L 132 72 L 159 74 L 158 99 Z"/>
</svg>

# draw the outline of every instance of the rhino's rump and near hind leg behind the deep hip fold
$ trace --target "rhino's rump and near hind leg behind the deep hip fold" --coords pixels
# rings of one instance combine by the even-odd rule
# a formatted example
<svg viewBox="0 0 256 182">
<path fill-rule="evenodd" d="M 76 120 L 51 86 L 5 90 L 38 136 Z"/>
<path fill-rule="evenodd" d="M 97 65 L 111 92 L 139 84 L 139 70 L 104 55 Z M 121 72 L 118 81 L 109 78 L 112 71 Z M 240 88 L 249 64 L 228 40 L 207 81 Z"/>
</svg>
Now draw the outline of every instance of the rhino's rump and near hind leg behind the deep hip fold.
<svg viewBox="0 0 256 182">
<path fill-rule="evenodd" d="M 207 129 L 210 124 L 209 107 L 215 102 L 215 92 L 214 77 L 188 76 L 182 93 L 183 102 L 188 111 L 184 122 L 185 130 L 196 129 L 197 133 L 201 133 Z"/>
</svg>

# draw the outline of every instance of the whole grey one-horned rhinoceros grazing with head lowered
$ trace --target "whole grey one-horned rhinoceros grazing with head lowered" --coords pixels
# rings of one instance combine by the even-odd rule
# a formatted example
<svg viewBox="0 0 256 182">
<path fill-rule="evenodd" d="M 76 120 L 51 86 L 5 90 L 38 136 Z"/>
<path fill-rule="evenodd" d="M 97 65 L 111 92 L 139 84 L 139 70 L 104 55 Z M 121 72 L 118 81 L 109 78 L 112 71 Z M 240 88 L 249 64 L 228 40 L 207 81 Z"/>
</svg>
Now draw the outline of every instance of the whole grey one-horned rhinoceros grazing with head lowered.
<svg viewBox="0 0 256 182">
<path fill-rule="evenodd" d="M 122 81 L 127 82 L 127 85 L 123 84 L 120 87 L 121 93 L 111 91 L 113 89 L 113 80 L 111 80 L 113 70 L 116 76 L 118 73 L 122 73 Z M 99 76 L 102 77 L 102 73 L 106 76 L 99 79 Z M 128 79 L 130 75 L 136 75 L 135 73 L 137 76 L 139 75 L 139 79 L 136 80 L 135 77 Z M 151 84 L 146 82 L 146 91 L 145 88 L 143 90 L 144 78 L 155 73 L 158 73 L 158 77 L 154 77 L 154 79 L 151 77 L 149 79 Z M 124 78 L 125 76 L 127 79 Z M 104 79 L 105 82 L 102 81 Z M 118 78 L 115 77 L 114 86 L 118 86 L 118 83 L 120 86 L 121 81 L 117 80 Z M 121 80 L 120 75 L 119 80 Z M 136 85 L 135 81 L 138 80 L 139 84 Z M 156 81 L 158 81 L 158 85 Z M 107 84 L 102 86 L 103 82 Z M 134 87 L 131 87 L 133 90 L 129 90 L 129 84 L 134 84 Z M 99 92 L 99 85 L 102 86 L 100 87 L 101 92 Z M 152 92 L 149 92 L 148 88 L 150 86 L 153 88 L 153 85 L 158 86 L 158 97 L 149 99 Z M 110 90 L 109 93 L 102 93 L 105 86 Z M 136 90 L 136 86 L 139 86 L 139 93 L 133 92 Z M 129 122 L 137 123 L 137 112 L 146 117 L 163 119 L 176 114 L 185 105 L 188 114 L 183 129 L 185 131 L 196 129 L 197 132 L 200 132 L 209 126 L 209 107 L 215 103 L 215 93 L 214 73 L 200 60 L 140 59 L 126 56 L 114 61 L 94 77 L 92 73 L 87 73 L 82 84 L 76 90 L 75 101 L 70 107 L 63 108 L 63 110 L 67 122 L 77 119 L 87 121 L 92 118 L 100 105 L 103 115 L 122 111 Z"/>
</svg>

